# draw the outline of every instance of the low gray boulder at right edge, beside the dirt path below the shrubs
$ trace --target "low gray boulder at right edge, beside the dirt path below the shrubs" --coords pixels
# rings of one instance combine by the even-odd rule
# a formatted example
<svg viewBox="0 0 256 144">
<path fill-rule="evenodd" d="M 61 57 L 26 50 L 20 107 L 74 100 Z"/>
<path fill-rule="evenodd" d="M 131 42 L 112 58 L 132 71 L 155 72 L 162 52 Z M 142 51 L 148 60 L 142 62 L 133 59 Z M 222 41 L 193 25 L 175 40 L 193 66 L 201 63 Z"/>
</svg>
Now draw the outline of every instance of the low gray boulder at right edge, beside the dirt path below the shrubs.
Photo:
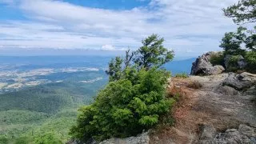
<svg viewBox="0 0 256 144">
<path fill-rule="evenodd" d="M 237 90 L 243 90 L 250 88 L 256 84 L 256 74 L 242 73 L 234 74 L 230 73 L 229 77 L 226 78 L 223 82 L 223 86 L 231 86 Z"/>
</svg>

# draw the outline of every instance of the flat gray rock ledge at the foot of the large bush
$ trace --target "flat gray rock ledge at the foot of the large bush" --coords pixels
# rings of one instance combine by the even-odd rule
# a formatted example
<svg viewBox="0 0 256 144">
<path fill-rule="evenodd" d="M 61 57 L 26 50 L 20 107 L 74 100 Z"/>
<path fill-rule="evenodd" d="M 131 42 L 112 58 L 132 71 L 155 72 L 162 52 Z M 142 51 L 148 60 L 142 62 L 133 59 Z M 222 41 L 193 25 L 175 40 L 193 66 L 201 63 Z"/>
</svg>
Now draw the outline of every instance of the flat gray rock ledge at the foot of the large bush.
<svg viewBox="0 0 256 144">
<path fill-rule="evenodd" d="M 110 138 L 100 144 L 149 144 L 150 137 L 148 132 L 142 133 L 137 137 L 130 137 L 130 138 Z"/>
</svg>

